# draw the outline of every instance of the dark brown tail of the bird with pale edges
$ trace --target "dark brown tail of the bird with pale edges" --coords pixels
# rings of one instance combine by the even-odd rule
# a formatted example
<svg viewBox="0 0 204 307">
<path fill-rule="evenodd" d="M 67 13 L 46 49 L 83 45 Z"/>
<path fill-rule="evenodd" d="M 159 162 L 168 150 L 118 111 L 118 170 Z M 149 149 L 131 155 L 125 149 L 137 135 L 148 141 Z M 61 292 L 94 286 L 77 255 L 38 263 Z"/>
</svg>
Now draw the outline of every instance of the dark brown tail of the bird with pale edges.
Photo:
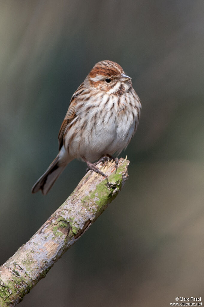
<svg viewBox="0 0 204 307">
<path fill-rule="evenodd" d="M 51 187 L 54 185 L 55 181 L 62 173 L 63 169 L 66 167 L 66 164 L 59 164 L 59 154 L 55 160 L 48 167 L 46 172 L 38 179 L 38 181 L 33 185 L 31 192 L 36 193 L 42 191 L 43 195 L 46 195 Z"/>
</svg>

